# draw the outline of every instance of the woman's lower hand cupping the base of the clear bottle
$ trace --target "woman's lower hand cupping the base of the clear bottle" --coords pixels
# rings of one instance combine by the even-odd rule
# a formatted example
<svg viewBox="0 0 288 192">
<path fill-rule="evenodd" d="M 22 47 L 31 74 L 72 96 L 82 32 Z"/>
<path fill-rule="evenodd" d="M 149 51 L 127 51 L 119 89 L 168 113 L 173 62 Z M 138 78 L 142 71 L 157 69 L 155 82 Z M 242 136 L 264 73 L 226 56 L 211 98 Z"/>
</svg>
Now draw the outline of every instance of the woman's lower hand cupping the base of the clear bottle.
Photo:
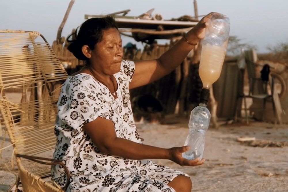
<svg viewBox="0 0 288 192">
<path fill-rule="evenodd" d="M 182 157 L 182 153 L 189 150 L 189 146 L 183 147 L 173 147 L 168 149 L 170 154 L 170 160 L 181 165 L 181 166 L 197 166 L 202 165 L 205 159 L 201 159 L 199 161 L 199 157 L 197 159 L 189 160 Z"/>
</svg>

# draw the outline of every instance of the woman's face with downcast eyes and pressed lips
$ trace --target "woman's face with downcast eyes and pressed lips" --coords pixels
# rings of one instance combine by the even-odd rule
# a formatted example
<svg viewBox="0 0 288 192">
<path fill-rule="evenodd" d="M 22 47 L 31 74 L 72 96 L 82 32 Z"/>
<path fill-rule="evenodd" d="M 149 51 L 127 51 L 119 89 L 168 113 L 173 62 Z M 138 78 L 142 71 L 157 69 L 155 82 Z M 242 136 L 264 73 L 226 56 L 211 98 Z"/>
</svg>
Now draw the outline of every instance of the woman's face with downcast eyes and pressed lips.
<svg viewBox="0 0 288 192">
<path fill-rule="evenodd" d="M 116 28 L 103 30 L 102 41 L 91 51 L 90 64 L 103 75 L 112 75 L 120 71 L 123 57 L 122 39 Z"/>
</svg>

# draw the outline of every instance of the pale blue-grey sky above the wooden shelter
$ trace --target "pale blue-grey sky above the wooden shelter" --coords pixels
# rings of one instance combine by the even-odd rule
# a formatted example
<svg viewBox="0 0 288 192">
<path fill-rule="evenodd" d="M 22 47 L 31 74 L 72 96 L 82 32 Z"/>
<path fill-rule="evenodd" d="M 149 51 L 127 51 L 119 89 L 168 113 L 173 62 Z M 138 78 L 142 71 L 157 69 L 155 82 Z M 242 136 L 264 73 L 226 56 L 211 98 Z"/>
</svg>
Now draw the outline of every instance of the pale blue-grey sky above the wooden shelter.
<svg viewBox="0 0 288 192">
<path fill-rule="evenodd" d="M 152 14 L 164 19 L 194 16 L 194 0 L 75 0 L 62 30 L 67 37 L 73 28 L 85 21 L 85 14 L 109 14 L 130 9 L 128 16 L 138 16 L 154 8 Z M 254 45 L 257 53 L 267 47 L 288 43 L 287 0 L 197 0 L 198 15 L 219 12 L 230 18 L 230 36 L 240 43 Z M 0 0 L 0 30 L 38 31 L 50 45 L 56 40 L 70 0 Z M 135 43 L 123 38 L 124 45 Z"/>
</svg>

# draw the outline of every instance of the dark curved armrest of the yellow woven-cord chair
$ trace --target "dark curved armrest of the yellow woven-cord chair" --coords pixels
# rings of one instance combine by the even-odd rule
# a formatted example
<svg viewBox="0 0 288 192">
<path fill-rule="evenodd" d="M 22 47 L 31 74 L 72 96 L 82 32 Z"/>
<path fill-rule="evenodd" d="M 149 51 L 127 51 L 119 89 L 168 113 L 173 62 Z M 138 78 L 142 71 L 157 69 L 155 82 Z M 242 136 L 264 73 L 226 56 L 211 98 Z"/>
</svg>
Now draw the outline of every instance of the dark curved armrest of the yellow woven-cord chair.
<svg viewBox="0 0 288 192">
<path fill-rule="evenodd" d="M 21 155 L 21 154 L 16 154 L 16 157 L 22 157 L 24 159 L 28 159 L 31 161 L 34 161 L 36 163 L 40 163 L 40 164 L 44 164 L 44 165 L 56 165 L 56 164 L 60 164 L 61 166 L 63 166 L 63 168 L 65 169 L 66 173 L 67 173 L 67 183 L 64 185 L 64 187 L 62 187 L 62 189 L 64 191 L 66 191 L 68 185 L 69 185 L 69 178 L 70 178 L 70 172 L 67 169 L 67 167 L 65 166 L 65 164 L 61 161 L 61 160 L 57 160 L 57 159 L 50 159 L 50 158 L 45 158 L 45 157 L 37 157 L 37 156 L 31 156 L 31 155 Z M 43 160 L 43 161 L 40 161 Z M 51 162 L 45 162 L 45 161 L 51 161 Z"/>
</svg>

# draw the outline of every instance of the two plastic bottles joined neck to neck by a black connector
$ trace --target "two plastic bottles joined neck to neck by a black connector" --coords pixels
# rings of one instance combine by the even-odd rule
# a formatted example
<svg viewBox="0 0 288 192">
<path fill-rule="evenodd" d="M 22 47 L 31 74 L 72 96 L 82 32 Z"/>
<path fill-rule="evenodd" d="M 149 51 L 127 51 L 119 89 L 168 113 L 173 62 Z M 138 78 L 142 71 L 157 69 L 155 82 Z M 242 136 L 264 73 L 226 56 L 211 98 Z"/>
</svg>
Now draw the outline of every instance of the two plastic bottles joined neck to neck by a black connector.
<svg viewBox="0 0 288 192">
<path fill-rule="evenodd" d="M 207 109 L 209 88 L 220 77 L 222 65 L 230 32 L 230 20 L 222 14 L 213 15 L 207 22 L 205 37 L 202 42 L 202 52 L 199 65 L 199 76 L 203 83 L 200 94 L 200 104 L 190 114 L 189 133 L 184 145 L 189 145 L 189 151 L 182 153 L 186 159 L 203 157 L 205 132 L 209 128 L 211 113 Z"/>
</svg>

